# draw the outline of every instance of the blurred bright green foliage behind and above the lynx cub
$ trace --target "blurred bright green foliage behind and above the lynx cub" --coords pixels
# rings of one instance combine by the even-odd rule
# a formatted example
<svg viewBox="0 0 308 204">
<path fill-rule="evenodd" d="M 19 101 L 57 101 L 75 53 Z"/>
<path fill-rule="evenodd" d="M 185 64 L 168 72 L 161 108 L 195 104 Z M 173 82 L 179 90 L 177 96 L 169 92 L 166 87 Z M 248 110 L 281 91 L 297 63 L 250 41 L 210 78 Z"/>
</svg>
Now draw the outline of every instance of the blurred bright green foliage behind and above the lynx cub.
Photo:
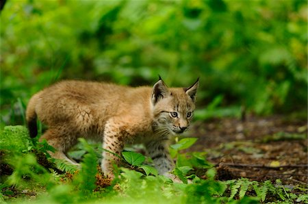
<svg viewBox="0 0 308 204">
<path fill-rule="evenodd" d="M 7 1 L 1 126 L 61 79 L 190 86 L 197 119 L 307 116 L 307 1 Z M 298 114 L 299 113 L 299 114 Z"/>
</svg>

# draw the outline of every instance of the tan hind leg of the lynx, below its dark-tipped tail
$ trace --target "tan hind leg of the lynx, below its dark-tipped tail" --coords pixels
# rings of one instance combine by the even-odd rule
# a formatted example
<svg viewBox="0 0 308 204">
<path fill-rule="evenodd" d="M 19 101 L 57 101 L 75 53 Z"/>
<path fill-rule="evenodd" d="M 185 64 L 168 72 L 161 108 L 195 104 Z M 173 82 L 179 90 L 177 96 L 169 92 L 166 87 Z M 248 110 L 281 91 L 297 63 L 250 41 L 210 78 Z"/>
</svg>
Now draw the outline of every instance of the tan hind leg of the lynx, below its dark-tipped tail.
<svg viewBox="0 0 308 204">
<path fill-rule="evenodd" d="M 40 141 L 42 140 L 47 140 L 47 143 L 56 149 L 55 153 L 49 152 L 51 157 L 66 160 L 70 164 L 79 165 L 66 156 L 66 151 L 77 143 L 77 137 L 73 133 L 67 131 L 65 127 L 48 129 L 42 137 L 40 137 Z"/>
</svg>

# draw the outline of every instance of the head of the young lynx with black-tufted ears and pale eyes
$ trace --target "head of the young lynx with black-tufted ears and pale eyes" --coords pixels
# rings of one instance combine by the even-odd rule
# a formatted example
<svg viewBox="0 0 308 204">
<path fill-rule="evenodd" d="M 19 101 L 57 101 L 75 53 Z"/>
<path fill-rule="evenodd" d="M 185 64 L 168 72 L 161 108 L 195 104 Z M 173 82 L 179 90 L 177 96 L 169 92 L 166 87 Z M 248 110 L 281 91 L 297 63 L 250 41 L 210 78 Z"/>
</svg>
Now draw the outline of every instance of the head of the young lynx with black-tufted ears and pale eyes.
<svg viewBox="0 0 308 204">
<path fill-rule="evenodd" d="M 183 133 L 190 125 L 194 113 L 198 80 L 188 88 L 168 88 L 162 78 L 154 84 L 154 128 L 162 134 Z"/>
</svg>

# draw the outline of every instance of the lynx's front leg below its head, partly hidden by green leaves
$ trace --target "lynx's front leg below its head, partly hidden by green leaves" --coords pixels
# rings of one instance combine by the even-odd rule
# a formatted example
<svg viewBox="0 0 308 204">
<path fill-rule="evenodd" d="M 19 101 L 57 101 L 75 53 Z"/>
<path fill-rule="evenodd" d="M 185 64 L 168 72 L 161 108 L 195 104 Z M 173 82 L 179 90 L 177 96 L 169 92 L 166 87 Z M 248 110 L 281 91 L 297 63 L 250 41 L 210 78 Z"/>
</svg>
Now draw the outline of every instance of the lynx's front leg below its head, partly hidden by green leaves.
<svg viewBox="0 0 308 204">
<path fill-rule="evenodd" d="M 146 149 L 152 158 L 159 175 L 165 175 L 170 178 L 174 177 L 174 175 L 170 174 L 170 171 L 175 168 L 175 164 L 168 151 L 168 140 L 162 139 L 151 141 L 146 144 Z"/>
</svg>

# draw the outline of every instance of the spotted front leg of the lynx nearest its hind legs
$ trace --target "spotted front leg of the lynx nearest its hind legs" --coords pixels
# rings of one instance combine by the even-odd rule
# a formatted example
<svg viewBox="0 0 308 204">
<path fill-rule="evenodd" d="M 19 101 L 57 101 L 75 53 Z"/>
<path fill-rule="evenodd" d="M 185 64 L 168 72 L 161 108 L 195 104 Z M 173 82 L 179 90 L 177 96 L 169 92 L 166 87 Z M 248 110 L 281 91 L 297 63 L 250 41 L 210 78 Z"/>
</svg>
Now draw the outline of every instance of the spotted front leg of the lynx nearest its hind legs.
<svg viewBox="0 0 308 204">
<path fill-rule="evenodd" d="M 106 125 L 103 136 L 103 160 L 101 168 L 104 175 L 114 178 L 114 165 L 120 162 L 120 153 L 123 151 L 124 143 L 118 128 Z"/>
</svg>

